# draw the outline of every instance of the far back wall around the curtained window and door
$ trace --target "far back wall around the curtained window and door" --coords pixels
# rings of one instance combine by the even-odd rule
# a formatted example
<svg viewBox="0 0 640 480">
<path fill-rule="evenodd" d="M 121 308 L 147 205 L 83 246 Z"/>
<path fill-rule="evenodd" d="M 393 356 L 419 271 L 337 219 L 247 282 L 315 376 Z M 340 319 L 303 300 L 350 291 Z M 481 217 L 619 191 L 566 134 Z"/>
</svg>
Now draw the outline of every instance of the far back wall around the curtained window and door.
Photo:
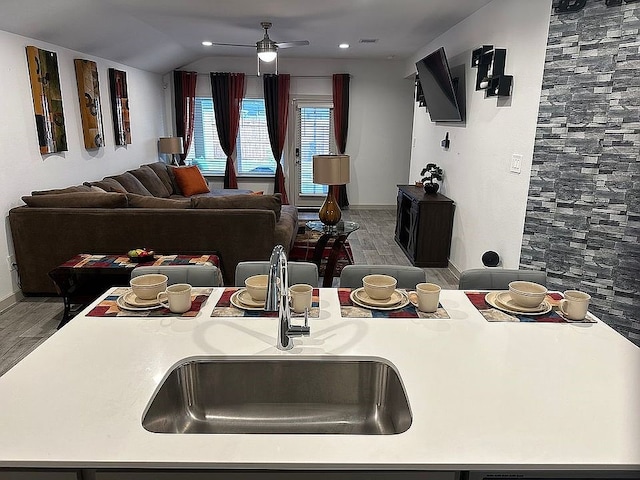
<svg viewBox="0 0 640 480">
<path fill-rule="evenodd" d="M 392 60 L 303 60 L 281 55 L 278 71 L 292 75 L 292 100 L 301 95 L 331 96 L 331 75 L 351 75 L 346 153 L 351 156 L 351 183 L 347 191 L 352 206 L 395 205 L 396 185 L 406 181 L 413 81 L 404 78 L 404 68 L 404 62 Z M 198 77 L 199 95 L 211 95 L 209 72 L 244 72 L 248 75 L 247 96 L 262 97 L 262 79 L 255 77 L 254 58 L 209 57 L 182 69 L 202 73 Z M 213 183 L 219 186 L 222 180 Z M 239 178 L 238 183 L 240 188 L 273 192 L 272 179 L 259 182 Z"/>
</svg>

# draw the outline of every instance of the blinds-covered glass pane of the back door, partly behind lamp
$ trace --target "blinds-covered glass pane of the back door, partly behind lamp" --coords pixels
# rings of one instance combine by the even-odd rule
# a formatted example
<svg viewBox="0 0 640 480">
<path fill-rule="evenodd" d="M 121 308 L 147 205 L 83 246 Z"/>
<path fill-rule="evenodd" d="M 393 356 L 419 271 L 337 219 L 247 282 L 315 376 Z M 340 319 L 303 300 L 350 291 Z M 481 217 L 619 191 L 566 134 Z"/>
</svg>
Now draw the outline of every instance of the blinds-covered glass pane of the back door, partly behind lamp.
<svg viewBox="0 0 640 480">
<path fill-rule="evenodd" d="M 300 195 L 326 195 L 328 187 L 313 183 L 313 156 L 336 151 L 333 108 L 300 105 L 298 108 Z"/>
</svg>

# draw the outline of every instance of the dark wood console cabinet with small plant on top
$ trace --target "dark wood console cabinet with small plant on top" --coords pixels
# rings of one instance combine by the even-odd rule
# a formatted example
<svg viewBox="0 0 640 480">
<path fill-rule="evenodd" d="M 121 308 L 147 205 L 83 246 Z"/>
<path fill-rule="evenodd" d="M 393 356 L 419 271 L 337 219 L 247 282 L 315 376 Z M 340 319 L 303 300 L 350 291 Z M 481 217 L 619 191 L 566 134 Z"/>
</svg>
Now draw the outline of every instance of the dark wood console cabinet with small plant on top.
<svg viewBox="0 0 640 480">
<path fill-rule="evenodd" d="M 453 200 L 444 195 L 398 185 L 395 240 L 416 267 L 449 266 L 453 211 Z"/>
</svg>

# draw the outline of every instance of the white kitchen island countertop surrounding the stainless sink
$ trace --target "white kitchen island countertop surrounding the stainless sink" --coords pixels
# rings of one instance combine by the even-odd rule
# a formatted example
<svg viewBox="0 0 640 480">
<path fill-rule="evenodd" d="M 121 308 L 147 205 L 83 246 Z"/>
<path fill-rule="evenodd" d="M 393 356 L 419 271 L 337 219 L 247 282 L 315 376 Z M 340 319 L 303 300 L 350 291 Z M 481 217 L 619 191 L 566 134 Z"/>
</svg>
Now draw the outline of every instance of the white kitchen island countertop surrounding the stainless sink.
<svg viewBox="0 0 640 480">
<path fill-rule="evenodd" d="M 0 467 L 640 470 L 640 348 L 598 321 L 490 323 L 464 292 L 447 320 L 80 315 L 0 378 Z M 382 358 L 413 422 L 398 435 L 158 434 L 141 424 L 173 366 L 202 357 Z"/>
</svg>

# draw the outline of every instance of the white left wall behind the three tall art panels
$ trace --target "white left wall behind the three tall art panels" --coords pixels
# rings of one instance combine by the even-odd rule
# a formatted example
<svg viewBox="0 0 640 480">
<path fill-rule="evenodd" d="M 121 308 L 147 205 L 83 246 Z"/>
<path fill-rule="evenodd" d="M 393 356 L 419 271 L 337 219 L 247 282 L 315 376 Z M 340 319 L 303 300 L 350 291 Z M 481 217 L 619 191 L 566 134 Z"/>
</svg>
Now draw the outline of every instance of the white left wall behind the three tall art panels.
<svg viewBox="0 0 640 480">
<path fill-rule="evenodd" d="M 58 54 L 67 152 L 40 154 L 25 53 L 27 45 Z M 73 64 L 75 58 L 93 60 L 98 64 L 106 146 L 97 150 L 84 147 Z M 5 218 L 4 234 L 0 235 L 1 302 L 19 290 L 15 274 L 9 272 L 7 257 L 13 254 L 8 212 L 23 204 L 20 197 L 29 195 L 32 190 L 100 180 L 105 175 L 121 173 L 157 160 L 157 141 L 164 134 L 164 116 L 161 77 L 157 74 L 1 31 L 0 66 L 0 208 Z M 132 143 L 126 147 L 114 144 L 107 73 L 110 67 L 127 72 Z M 42 240 L 47 241 L 46 238 Z"/>
</svg>

